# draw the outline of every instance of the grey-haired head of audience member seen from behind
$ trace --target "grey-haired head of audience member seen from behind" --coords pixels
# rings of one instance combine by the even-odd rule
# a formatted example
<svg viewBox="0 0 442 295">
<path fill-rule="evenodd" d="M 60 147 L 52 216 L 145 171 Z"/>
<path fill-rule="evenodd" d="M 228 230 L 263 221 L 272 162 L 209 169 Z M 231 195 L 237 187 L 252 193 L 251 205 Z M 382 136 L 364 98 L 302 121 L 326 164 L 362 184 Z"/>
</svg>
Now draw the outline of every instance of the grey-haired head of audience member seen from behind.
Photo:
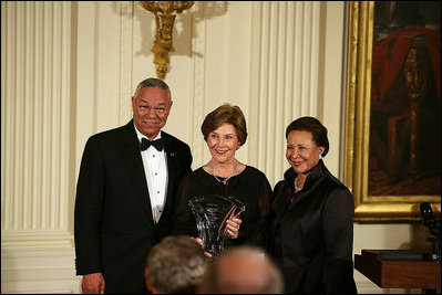
<svg viewBox="0 0 442 295">
<path fill-rule="evenodd" d="M 166 236 L 153 246 L 145 270 L 153 294 L 196 293 L 202 284 L 207 257 L 202 246 L 186 235 Z"/>
</svg>

